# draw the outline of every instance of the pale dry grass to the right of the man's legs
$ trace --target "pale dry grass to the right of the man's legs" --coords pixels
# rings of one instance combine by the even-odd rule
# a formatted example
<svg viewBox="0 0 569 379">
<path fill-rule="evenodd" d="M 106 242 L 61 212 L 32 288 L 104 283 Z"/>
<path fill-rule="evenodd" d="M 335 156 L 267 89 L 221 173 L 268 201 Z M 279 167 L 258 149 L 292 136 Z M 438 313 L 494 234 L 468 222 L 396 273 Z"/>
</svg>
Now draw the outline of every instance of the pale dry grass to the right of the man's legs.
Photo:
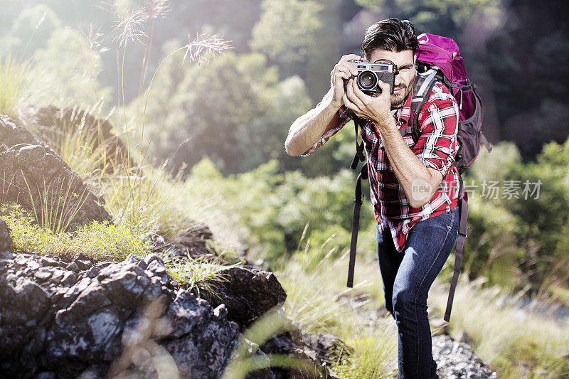
<svg viewBox="0 0 569 379">
<path fill-rule="evenodd" d="M 499 287 L 482 289 L 484 279 L 459 282 L 454 296 L 452 332 L 466 331 L 474 350 L 500 378 L 568 378 L 569 320 L 551 314 L 522 314 Z M 443 309 L 447 290 L 437 287 L 433 302 Z M 520 294 L 521 295 L 521 294 Z M 510 299 L 510 300 L 509 300 Z"/>
</svg>

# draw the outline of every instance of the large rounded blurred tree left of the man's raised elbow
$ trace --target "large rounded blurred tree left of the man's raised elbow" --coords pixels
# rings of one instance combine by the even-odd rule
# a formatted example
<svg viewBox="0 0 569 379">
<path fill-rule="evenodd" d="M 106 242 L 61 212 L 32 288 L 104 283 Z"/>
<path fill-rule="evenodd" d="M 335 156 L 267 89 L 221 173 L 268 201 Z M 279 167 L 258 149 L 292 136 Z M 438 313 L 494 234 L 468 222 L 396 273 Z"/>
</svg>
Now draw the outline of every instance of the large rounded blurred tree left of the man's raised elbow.
<svg viewBox="0 0 569 379">
<path fill-rule="evenodd" d="M 302 79 L 280 81 L 277 68 L 267 67 L 259 53 L 224 53 L 188 68 L 172 61 L 163 68 L 145 120 L 151 156 L 164 161 L 177 150 L 174 170 L 209 156 L 224 174 L 285 159 L 289 126 L 310 107 Z"/>
</svg>

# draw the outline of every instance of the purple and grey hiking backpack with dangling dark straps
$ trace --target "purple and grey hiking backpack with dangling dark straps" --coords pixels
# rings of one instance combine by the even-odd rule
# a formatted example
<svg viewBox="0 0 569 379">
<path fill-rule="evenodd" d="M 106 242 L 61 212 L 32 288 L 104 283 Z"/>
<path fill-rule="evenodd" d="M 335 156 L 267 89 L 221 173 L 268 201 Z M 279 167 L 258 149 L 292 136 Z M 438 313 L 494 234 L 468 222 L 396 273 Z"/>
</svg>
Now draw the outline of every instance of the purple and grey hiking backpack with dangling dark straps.
<svg viewBox="0 0 569 379">
<path fill-rule="evenodd" d="M 445 310 L 445 321 L 450 320 L 450 310 L 452 308 L 452 300 L 454 298 L 454 290 L 457 287 L 458 276 L 460 274 L 460 265 L 462 263 L 462 249 L 467 233 L 468 218 L 468 196 L 464 191 L 462 183 L 462 174 L 466 171 L 477 158 L 480 143 L 482 142 L 486 149 L 492 150 L 488 140 L 482 133 L 482 117 L 483 107 L 482 100 L 477 93 L 476 85 L 472 83 L 467 75 L 464 61 L 460 56 L 460 51 L 451 38 L 436 36 L 434 34 L 423 33 L 418 36 L 419 48 L 417 58 L 418 75 L 413 83 L 413 98 L 411 99 L 410 126 L 400 129 L 403 136 L 411 132 L 413 141 L 418 142 L 419 139 L 419 113 L 427 102 L 432 87 L 437 81 L 442 82 L 450 93 L 457 100 L 459 105 L 459 125 L 457 131 L 458 150 L 453 163 L 459 172 L 460 193 L 459 193 L 459 210 L 460 224 L 459 235 L 457 237 L 456 253 L 454 255 L 454 272 L 450 284 L 449 298 L 447 301 L 447 309 Z M 363 154 L 363 142 L 358 144 L 358 127 L 362 127 L 361 120 L 354 118 L 356 130 L 356 155 L 353 157 L 350 168 L 356 170 L 359 161 L 365 161 Z M 360 174 L 356 178 L 356 199 L 353 205 L 353 222 L 350 243 L 350 261 L 348 269 L 348 287 L 353 287 L 353 267 L 356 263 L 356 243 L 358 239 L 359 228 L 359 211 L 363 202 L 363 194 L 361 193 L 361 179 L 368 178 L 367 163 L 361 168 Z"/>
</svg>

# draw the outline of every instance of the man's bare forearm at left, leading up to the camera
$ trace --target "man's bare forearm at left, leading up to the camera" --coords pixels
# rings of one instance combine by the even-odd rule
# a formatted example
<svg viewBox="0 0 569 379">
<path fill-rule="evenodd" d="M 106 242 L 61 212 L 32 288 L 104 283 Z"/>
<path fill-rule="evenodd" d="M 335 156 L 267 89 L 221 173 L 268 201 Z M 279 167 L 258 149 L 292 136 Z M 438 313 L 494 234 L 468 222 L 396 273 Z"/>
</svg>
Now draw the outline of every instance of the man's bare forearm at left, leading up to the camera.
<svg viewBox="0 0 569 379">
<path fill-rule="evenodd" d="M 314 146 L 329 129 L 329 124 L 339 109 L 340 106 L 335 105 L 330 97 L 323 100 L 319 107 L 297 118 L 292 123 L 285 142 L 287 154 L 299 156 Z"/>
</svg>

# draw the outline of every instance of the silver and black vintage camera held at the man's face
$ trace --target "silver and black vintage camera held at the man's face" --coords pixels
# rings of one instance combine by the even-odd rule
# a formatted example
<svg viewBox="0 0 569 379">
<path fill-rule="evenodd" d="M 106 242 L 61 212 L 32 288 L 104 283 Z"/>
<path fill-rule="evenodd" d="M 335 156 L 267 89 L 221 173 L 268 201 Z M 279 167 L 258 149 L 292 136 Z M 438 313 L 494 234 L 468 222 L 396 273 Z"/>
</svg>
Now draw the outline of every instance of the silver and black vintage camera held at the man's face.
<svg viewBox="0 0 569 379">
<path fill-rule="evenodd" d="M 355 80 L 363 93 L 367 95 L 381 93 L 381 87 L 378 85 L 378 81 L 381 80 L 389 85 L 389 93 L 393 95 L 395 75 L 399 73 L 397 65 L 393 63 L 368 63 L 361 60 L 349 60 L 348 62 L 356 66 L 358 70 L 358 76 Z M 344 80 L 344 89 L 346 89 L 347 82 Z"/>
</svg>

